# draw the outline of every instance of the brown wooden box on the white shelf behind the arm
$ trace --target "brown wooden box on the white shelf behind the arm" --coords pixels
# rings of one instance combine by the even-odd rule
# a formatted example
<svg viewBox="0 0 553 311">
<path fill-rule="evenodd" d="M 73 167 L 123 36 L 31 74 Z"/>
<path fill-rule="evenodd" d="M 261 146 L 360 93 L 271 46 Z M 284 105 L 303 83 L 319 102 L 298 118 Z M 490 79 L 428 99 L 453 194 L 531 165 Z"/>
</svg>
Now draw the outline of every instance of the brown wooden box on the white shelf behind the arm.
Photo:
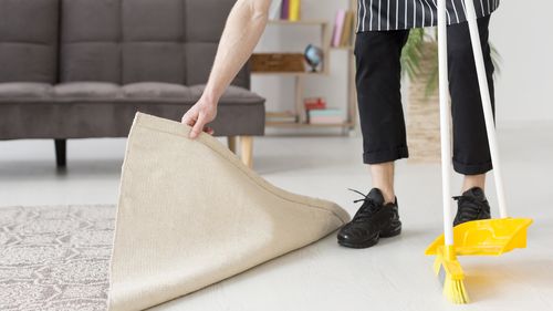
<svg viewBox="0 0 553 311">
<path fill-rule="evenodd" d="M 305 72 L 301 53 L 255 53 L 251 56 L 253 72 Z"/>
</svg>

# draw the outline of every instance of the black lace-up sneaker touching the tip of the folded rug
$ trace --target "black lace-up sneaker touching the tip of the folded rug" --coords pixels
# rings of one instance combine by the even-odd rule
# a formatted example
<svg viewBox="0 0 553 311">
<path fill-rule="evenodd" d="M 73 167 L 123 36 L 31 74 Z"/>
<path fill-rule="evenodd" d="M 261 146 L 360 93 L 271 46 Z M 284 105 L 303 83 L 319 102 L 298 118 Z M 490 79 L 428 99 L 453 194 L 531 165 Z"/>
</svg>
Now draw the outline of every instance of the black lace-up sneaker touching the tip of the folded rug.
<svg viewBox="0 0 553 311">
<path fill-rule="evenodd" d="M 356 190 L 354 190 L 356 191 Z M 397 209 L 397 198 L 394 204 L 384 205 L 382 191 L 373 188 L 364 198 L 359 210 L 352 221 L 338 232 L 338 243 L 351 248 L 367 248 L 376 245 L 379 238 L 397 236 L 401 232 L 401 221 Z"/>
</svg>

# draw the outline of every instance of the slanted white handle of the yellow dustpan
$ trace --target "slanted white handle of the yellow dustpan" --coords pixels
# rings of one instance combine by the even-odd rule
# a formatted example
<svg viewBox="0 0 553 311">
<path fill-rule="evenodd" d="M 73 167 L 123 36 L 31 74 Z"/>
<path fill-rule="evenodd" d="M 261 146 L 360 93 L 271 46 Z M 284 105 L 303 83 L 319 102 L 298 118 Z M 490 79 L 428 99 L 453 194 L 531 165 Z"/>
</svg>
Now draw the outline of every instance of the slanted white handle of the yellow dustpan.
<svg viewBox="0 0 553 311">
<path fill-rule="evenodd" d="M 507 201 L 499 160 L 498 139 L 495 135 L 495 125 L 493 123 L 493 112 L 491 108 L 490 89 L 488 89 L 488 77 L 486 75 L 482 46 L 480 43 L 480 34 L 478 31 L 477 13 L 474 11 L 474 3 L 472 2 L 472 0 L 465 0 L 465 7 L 467 8 L 470 41 L 472 43 L 472 52 L 474 53 L 474 62 L 477 65 L 480 96 L 482 97 L 482 108 L 486 120 L 486 132 L 488 133 L 488 142 L 490 145 L 491 163 L 493 164 L 493 177 L 495 180 L 495 190 L 498 193 L 499 214 L 501 218 L 507 218 Z"/>
</svg>

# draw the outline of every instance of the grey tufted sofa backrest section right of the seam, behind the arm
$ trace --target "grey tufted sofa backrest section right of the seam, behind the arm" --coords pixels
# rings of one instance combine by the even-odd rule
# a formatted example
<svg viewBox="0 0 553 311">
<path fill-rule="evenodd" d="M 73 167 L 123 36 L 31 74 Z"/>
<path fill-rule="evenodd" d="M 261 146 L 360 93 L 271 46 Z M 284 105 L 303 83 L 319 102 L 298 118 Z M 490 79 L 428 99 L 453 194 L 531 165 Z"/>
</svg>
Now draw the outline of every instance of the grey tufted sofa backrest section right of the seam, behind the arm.
<svg viewBox="0 0 553 311">
<path fill-rule="evenodd" d="M 206 83 L 234 0 L 60 0 L 62 82 Z M 242 70 L 234 85 L 249 89 Z"/>
</svg>

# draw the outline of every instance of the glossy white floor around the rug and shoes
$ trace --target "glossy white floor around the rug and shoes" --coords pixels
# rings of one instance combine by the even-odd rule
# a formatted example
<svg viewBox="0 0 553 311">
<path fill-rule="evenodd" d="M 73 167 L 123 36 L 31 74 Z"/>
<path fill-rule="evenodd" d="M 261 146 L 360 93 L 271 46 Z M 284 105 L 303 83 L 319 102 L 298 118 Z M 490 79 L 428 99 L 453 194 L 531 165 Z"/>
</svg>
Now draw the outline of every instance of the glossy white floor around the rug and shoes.
<svg viewBox="0 0 553 311">
<path fill-rule="evenodd" d="M 461 258 L 469 305 L 444 300 L 432 258 L 422 253 L 441 230 L 440 168 L 404 160 L 396 177 L 400 237 L 353 250 L 332 235 L 155 310 L 553 310 L 553 125 L 505 128 L 500 143 L 511 215 L 535 222 L 525 250 Z M 70 141 L 69 168 L 59 173 L 51 141 L 0 142 L 0 206 L 114 204 L 124 144 Z M 276 186 L 354 212 L 358 195 L 346 188 L 371 187 L 361 152 L 358 137 L 263 137 L 255 141 L 255 169 Z M 490 178 L 493 208 L 492 189 Z"/>
</svg>

